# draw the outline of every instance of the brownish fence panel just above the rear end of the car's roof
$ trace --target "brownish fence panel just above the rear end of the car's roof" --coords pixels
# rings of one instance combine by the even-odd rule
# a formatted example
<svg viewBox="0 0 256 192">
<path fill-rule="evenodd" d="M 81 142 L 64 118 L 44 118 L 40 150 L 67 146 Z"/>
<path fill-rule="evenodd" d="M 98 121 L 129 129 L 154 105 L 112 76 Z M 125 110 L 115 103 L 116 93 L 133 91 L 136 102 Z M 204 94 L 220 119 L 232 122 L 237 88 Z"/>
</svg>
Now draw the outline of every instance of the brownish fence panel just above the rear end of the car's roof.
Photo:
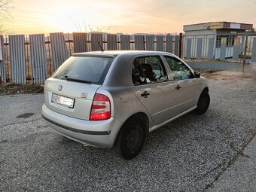
<svg viewBox="0 0 256 192">
<path fill-rule="evenodd" d="M 74 52 L 81 53 L 87 51 L 87 33 L 73 32 Z"/>
</svg>

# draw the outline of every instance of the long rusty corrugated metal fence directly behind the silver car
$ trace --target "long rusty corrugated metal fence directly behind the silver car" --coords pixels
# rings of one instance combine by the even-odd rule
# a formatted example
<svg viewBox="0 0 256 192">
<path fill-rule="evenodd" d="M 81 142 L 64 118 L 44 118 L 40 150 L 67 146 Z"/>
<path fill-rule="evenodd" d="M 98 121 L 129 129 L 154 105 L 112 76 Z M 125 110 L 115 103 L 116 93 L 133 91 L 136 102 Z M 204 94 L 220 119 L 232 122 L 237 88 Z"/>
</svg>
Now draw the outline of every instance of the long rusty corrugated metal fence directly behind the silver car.
<svg viewBox="0 0 256 192">
<path fill-rule="evenodd" d="M 178 36 L 62 32 L 0 36 L 2 82 L 44 84 L 72 53 L 92 50 L 160 50 L 178 54 Z M 2 53 L 2 54 L 1 54 Z"/>
</svg>

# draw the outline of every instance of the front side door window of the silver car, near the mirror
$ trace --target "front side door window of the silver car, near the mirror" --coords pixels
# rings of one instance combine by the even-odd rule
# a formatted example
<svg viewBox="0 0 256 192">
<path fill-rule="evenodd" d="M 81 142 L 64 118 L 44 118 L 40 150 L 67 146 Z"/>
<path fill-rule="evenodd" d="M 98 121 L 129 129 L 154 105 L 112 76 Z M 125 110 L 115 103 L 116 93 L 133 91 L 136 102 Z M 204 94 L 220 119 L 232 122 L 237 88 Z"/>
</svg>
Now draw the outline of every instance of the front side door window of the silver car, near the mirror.
<svg viewBox="0 0 256 192">
<path fill-rule="evenodd" d="M 172 56 L 164 57 L 168 63 L 169 68 L 171 69 L 173 80 L 194 78 L 194 75 L 190 69 L 183 62 L 181 62 L 181 60 Z"/>
</svg>

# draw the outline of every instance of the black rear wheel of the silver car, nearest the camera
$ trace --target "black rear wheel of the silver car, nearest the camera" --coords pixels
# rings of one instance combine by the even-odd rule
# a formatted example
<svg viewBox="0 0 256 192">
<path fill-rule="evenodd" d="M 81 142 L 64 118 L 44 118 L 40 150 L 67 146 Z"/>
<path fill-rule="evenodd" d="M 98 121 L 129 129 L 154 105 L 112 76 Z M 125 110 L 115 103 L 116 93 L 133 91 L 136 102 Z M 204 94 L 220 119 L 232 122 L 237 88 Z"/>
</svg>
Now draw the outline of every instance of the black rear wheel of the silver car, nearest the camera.
<svg viewBox="0 0 256 192">
<path fill-rule="evenodd" d="M 125 160 L 133 159 L 142 150 L 146 132 L 143 124 L 136 118 L 127 120 L 120 129 L 114 151 Z"/>
</svg>

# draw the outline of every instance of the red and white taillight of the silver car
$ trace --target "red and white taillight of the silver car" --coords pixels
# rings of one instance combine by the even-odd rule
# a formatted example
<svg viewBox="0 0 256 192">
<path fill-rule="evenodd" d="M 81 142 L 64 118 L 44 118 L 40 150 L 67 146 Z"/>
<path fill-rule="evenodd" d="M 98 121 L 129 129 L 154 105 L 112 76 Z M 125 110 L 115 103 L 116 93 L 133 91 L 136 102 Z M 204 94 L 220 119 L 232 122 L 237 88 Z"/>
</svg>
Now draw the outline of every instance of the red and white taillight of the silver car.
<svg viewBox="0 0 256 192">
<path fill-rule="evenodd" d="M 90 108 L 90 120 L 107 120 L 111 117 L 111 106 L 108 96 L 96 93 Z"/>
</svg>

